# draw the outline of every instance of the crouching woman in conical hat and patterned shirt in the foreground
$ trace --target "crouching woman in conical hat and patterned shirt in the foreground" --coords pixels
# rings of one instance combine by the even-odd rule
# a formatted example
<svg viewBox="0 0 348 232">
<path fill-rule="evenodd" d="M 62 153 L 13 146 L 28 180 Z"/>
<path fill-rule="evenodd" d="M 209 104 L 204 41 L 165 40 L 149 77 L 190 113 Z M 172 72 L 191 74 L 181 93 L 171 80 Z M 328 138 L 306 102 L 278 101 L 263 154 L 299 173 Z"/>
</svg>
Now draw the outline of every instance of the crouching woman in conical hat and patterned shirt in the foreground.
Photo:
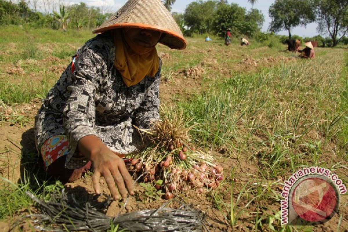
<svg viewBox="0 0 348 232">
<path fill-rule="evenodd" d="M 122 157 L 146 145 L 133 125 L 159 119 L 156 44 L 186 41 L 160 0 L 129 0 L 93 32 L 43 99 L 35 143 L 54 178 L 74 181 L 92 165 L 97 193 L 103 176 L 114 198 L 126 197 L 134 186 Z"/>
</svg>

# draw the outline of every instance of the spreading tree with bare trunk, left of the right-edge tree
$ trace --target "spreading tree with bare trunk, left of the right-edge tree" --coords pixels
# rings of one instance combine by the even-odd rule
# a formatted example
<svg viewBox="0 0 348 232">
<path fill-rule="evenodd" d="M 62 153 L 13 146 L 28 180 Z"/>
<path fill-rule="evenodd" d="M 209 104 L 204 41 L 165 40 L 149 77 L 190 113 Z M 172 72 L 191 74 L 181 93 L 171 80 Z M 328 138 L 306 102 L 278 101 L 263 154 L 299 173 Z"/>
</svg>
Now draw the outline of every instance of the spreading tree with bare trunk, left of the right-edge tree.
<svg viewBox="0 0 348 232">
<path fill-rule="evenodd" d="M 307 25 L 315 20 L 313 8 L 308 0 L 276 0 L 268 12 L 272 19 L 270 30 L 273 32 L 286 30 L 289 39 L 293 27 Z"/>
</svg>

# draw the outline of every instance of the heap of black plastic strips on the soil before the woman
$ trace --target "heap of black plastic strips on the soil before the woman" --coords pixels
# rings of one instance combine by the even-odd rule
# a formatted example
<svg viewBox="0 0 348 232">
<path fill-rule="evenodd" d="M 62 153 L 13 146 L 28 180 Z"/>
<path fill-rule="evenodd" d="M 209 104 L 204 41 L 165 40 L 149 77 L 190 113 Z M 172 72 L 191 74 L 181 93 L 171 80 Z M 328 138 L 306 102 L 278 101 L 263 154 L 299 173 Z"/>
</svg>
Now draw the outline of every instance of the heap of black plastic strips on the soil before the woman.
<svg viewBox="0 0 348 232">
<path fill-rule="evenodd" d="M 63 189 L 62 192 L 53 194 L 50 201 L 42 201 L 34 194 L 26 193 L 41 211 L 41 214 L 30 214 L 26 218 L 31 218 L 36 224 L 35 229 L 41 231 L 106 231 L 110 229 L 111 223 L 118 225 L 119 230 L 134 232 L 208 231 L 205 214 L 177 200 L 168 201 L 158 209 L 109 217 L 103 210 L 110 205 L 111 198 L 97 203 L 92 199 L 81 202 L 74 194 L 66 194 Z M 168 207 L 169 204 L 177 207 Z"/>
</svg>

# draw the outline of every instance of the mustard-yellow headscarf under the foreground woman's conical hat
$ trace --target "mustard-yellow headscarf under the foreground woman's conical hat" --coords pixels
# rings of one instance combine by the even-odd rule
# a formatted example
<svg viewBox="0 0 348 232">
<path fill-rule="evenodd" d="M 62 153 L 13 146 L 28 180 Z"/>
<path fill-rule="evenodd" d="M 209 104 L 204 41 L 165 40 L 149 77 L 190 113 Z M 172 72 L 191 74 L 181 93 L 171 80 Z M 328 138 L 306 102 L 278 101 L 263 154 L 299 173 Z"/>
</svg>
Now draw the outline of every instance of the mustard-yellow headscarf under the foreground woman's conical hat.
<svg viewBox="0 0 348 232">
<path fill-rule="evenodd" d="M 114 66 L 129 87 L 139 83 L 146 75 L 153 77 L 158 71 L 159 58 L 156 46 L 145 48 L 137 45 L 122 31 L 113 32 L 116 49 Z"/>
</svg>

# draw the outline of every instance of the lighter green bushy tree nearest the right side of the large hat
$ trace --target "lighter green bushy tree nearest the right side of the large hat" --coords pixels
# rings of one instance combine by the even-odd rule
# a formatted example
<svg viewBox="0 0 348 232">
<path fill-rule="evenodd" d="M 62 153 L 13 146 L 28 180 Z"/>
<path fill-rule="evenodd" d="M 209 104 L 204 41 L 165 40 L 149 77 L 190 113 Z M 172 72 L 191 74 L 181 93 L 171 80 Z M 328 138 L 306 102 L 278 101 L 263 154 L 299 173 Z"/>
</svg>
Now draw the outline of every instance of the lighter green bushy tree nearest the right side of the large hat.
<svg viewBox="0 0 348 232">
<path fill-rule="evenodd" d="M 212 30 L 214 10 L 217 3 L 208 0 L 206 2 L 191 2 L 185 9 L 184 21 L 191 31 L 198 31 L 200 34 Z"/>
</svg>

